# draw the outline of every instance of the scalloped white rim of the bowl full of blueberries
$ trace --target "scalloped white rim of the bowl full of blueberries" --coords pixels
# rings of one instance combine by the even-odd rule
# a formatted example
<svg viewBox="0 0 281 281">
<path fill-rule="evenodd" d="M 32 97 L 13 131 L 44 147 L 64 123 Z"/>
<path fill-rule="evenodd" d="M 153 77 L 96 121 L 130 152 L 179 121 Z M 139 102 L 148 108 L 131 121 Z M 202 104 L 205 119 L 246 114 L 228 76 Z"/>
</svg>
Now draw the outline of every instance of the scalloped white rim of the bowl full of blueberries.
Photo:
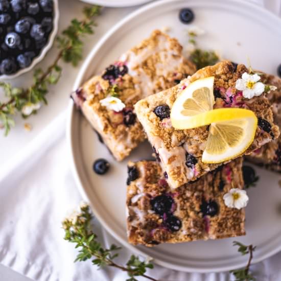
<svg viewBox="0 0 281 281">
<path fill-rule="evenodd" d="M 54 1 L 54 18 L 53 18 L 53 30 L 50 33 L 49 40 L 47 44 L 44 46 L 44 48 L 41 50 L 41 53 L 34 58 L 32 61 L 31 65 L 29 67 L 20 69 L 18 72 L 11 74 L 11 75 L 0 75 L 0 80 L 5 80 L 5 79 L 13 79 L 21 74 L 24 74 L 26 72 L 29 72 L 38 62 L 40 62 L 46 55 L 46 53 L 51 49 L 54 39 L 57 35 L 58 32 L 58 25 L 59 25 L 59 4 L 58 0 L 53 0 Z"/>
</svg>

